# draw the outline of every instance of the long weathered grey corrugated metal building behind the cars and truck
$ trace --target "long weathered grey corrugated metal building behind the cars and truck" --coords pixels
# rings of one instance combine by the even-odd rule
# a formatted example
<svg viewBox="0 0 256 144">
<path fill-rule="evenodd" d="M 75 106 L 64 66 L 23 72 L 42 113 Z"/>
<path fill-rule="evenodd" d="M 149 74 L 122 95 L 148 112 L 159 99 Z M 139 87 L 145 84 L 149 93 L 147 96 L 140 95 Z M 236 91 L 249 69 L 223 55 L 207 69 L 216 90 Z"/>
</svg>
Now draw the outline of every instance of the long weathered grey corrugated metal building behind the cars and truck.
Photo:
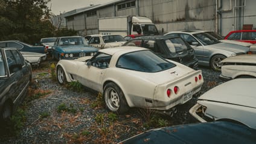
<svg viewBox="0 0 256 144">
<path fill-rule="evenodd" d="M 66 27 L 80 35 L 98 34 L 98 18 L 138 15 L 152 19 L 159 33 L 210 30 L 225 36 L 256 24 L 255 0 L 117 0 L 68 14 Z"/>
</svg>

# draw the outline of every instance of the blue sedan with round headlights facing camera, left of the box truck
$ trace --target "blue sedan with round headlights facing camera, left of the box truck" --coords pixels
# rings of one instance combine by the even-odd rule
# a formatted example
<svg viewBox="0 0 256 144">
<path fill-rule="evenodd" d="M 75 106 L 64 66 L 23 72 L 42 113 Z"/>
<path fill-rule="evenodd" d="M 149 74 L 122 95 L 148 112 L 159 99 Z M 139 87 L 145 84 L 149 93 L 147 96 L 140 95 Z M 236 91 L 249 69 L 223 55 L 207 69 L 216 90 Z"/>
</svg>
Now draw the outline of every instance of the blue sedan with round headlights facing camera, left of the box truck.
<svg viewBox="0 0 256 144">
<path fill-rule="evenodd" d="M 52 57 L 57 60 L 93 56 L 98 51 L 97 48 L 89 46 L 85 37 L 81 36 L 58 37 L 52 50 Z"/>
</svg>

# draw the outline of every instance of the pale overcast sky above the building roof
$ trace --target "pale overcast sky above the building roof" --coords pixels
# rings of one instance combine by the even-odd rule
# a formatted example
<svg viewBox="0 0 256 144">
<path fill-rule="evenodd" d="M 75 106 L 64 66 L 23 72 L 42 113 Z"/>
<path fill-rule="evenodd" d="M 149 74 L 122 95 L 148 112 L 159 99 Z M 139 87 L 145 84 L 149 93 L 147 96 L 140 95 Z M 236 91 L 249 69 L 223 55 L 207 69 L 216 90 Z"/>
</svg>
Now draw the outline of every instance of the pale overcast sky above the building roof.
<svg viewBox="0 0 256 144">
<path fill-rule="evenodd" d="M 113 0 L 51 0 L 48 7 L 51 7 L 51 12 L 55 15 L 75 10 L 77 8 L 88 7 L 90 4 L 105 4 Z"/>
</svg>

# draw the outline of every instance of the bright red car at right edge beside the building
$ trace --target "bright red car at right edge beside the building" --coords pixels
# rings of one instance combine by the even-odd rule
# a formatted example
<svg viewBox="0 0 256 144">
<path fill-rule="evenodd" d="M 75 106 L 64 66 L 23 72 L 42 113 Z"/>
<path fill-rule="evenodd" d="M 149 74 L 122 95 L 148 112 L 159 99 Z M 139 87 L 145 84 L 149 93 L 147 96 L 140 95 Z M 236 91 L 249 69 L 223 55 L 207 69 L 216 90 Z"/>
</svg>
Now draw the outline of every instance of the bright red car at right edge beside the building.
<svg viewBox="0 0 256 144">
<path fill-rule="evenodd" d="M 237 40 L 240 42 L 256 43 L 256 30 L 231 31 L 224 39 Z"/>
</svg>

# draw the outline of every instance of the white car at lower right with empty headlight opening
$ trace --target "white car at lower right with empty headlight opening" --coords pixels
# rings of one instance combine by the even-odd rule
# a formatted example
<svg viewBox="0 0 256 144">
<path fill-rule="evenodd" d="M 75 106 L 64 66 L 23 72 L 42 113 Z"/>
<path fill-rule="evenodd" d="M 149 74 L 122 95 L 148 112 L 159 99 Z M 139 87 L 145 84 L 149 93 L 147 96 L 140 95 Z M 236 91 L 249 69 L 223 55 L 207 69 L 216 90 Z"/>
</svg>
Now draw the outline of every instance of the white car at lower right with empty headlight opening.
<svg viewBox="0 0 256 144">
<path fill-rule="evenodd" d="M 190 113 L 199 121 L 195 113 L 198 105 L 206 107 L 205 116 L 214 120 L 232 119 L 256 128 L 256 79 L 239 78 L 214 87 L 198 98 Z"/>
</svg>

